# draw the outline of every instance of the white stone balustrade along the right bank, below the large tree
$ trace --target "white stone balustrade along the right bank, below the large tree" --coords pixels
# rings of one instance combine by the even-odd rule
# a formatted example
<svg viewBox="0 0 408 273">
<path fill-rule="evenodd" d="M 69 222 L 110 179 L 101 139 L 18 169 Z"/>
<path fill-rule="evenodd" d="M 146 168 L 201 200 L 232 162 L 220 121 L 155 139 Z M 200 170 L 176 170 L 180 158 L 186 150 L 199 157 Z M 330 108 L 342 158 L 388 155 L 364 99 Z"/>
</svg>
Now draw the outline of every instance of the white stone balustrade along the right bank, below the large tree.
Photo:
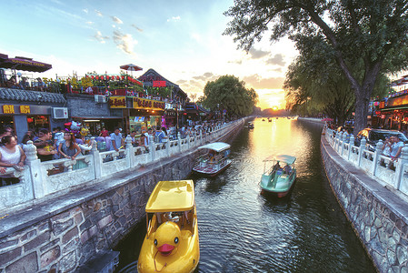
<svg viewBox="0 0 408 273">
<path fill-rule="evenodd" d="M 377 143 L 375 151 L 369 151 L 364 137 L 357 147 L 354 144 L 354 136 L 350 136 L 350 141 L 347 142 L 346 134 L 342 135 L 329 128 L 325 128 L 324 132 L 327 142 L 340 157 L 363 168 L 367 174 L 380 179 L 384 185 L 408 195 L 408 146 L 405 145 L 401 157 L 393 161 L 391 157 L 383 156 L 382 140 Z"/>
</svg>

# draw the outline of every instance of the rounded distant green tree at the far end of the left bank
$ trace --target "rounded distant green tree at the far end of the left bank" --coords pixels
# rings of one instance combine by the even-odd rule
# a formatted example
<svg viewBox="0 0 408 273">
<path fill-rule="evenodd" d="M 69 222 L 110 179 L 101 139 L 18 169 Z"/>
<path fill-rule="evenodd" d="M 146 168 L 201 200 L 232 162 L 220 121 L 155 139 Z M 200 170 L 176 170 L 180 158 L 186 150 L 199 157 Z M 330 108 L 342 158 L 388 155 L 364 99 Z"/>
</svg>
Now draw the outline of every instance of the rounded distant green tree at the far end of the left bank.
<svg viewBox="0 0 408 273">
<path fill-rule="evenodd" d="M 258 94 L 253 88 L 245 88 L 244 81 L 236 76 L 220 76 L 207 82 L 199 102 L 213 111 L 226 109 L 229 116 L 247 116 L 253 112 Z"/>
</svg>

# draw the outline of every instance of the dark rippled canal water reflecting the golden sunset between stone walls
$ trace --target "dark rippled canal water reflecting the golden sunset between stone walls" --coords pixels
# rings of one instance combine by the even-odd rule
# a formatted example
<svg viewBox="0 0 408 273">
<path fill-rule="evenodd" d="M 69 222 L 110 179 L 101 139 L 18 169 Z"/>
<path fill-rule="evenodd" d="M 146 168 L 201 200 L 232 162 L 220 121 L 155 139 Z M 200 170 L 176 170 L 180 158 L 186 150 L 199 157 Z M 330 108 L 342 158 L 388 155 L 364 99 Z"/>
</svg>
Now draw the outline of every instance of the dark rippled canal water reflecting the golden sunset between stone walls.
<svg viewBox="0 0 408 273">
<path fill-rule="evenodd" d="M 324 175 L 321 125 L 254 119 L 234 139 L 232 166 L 194 179 L 200 238 L 195 272 L 375 272 Z M 297 157 L 288 197 L 261 195 L 263 159 Z M 118 246 L 122 272 L 136 272 L 145 223 Z M 129 265 L 130 264 L 130 265 Z"/>
</svg>

